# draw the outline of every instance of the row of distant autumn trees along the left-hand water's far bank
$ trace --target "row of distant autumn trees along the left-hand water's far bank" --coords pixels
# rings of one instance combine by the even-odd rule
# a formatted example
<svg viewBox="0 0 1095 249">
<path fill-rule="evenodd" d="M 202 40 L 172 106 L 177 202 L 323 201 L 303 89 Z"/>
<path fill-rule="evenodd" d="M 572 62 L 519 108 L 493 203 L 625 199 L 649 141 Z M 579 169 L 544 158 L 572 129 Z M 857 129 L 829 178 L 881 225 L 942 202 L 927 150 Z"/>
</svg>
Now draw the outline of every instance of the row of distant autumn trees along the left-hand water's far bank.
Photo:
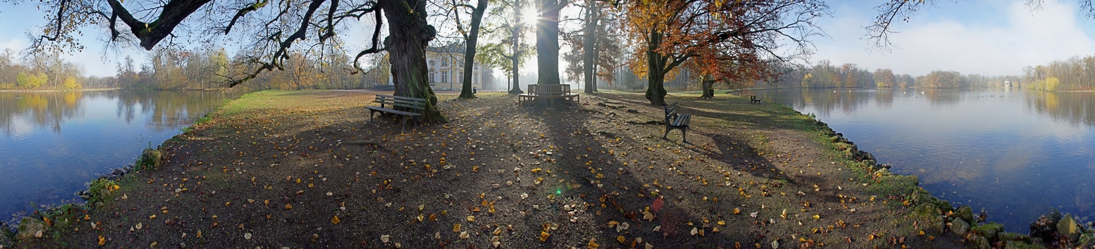
<svg viewBox="0 0 1095 249">
<path fill-rule="evenodd" d="M 237 88 L 247 89 L 360 89 L 388 83 L 387 67 L 378 67 L 380 57 L 362 58 L 372 65 L 366 73 L 353 73 L 353 59 L 345 53 L 291 52 L 284 70 L 261 73 Z M 22 60 L 18 58 L 23 58 Z M 143 64 L 127 56 L 115 65 L 112 77 L 85 77 L 83 68 L 60 59 L 57 54 L 20 56 L 0 53 L 0 90 L 76 90 L 81 88 L 123 88 L 194 90 L 221 88 L 235 76 L 254 71 L 253 58 L 229 58 L 223 48 L 152 52 Z M 364 61 L 369 59 L 369 61 Z"/>
</svg>

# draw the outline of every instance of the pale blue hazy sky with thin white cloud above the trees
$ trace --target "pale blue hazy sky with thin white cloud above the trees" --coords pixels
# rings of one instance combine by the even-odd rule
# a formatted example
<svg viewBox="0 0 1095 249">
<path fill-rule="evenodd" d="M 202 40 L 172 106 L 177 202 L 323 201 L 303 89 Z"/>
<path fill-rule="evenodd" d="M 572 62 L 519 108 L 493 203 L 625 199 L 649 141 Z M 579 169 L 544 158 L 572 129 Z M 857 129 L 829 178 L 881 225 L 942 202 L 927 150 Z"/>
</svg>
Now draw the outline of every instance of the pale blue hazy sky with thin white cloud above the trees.
<svg viewBox="0 0 1095 249">
<path fill-rule="evenodd" d="M 885 0 L 830 1 L 832 16 L 818 20 L 826 37 L 814 37 L 817 50 L 811 61 L 856 64 L 862 68 L 892 69 L 913 76 L 932 70 L 955 70 L 986 76 L 1019 75 L 1025 66 L 1095 54 L 1095 20 L 1076 11 L 1070 0 L 1046 0 L 1030 10 L 1025 0 L 938 0 L 909 22 L 896 23 L 889 52 L 873 50 L 863 39 L 863 29 L 874 21 L 874 7 Z M 0 50 L 30 45 L 27 31 L 45 23 L 46 14 L 33 4 L 0 3 Z M 364 30 L 364 29 L 361 29 Z M 351 31 L 350 39 L 368 32 Z M 114 65 L 125 56 L 145 61 L 146 52 L 132 46 L 107 48 L 100 39 L 105 32 L 88 29 L 82 52 L 64 55 L 84 67 L 89 76 L 113 76 Z M 366 46 L 360 44 L 359 46 Z M 565 48 L 564 48 L 565 49 Z M 533 60 L 534 61 L 534 60 Z"/>
</svg>

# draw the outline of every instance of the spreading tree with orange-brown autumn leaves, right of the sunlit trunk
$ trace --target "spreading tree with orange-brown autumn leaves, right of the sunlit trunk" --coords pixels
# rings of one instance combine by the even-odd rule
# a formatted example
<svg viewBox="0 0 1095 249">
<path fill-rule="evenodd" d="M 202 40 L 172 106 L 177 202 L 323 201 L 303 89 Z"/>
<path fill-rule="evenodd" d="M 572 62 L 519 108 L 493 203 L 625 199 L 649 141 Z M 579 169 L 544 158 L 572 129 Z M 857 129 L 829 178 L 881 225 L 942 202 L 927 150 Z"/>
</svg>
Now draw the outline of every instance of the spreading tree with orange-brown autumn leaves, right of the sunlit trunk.
<svg viewBox="0 0 1095 249">
<path fill-rule="evenodd" d="M 655 105 L 666 104 L 666 73 L 692 58 L 703 68 L 699 73 L 727 82 L 771 76 L 770 61 L 808 54 L 808 38 L 819 34 L 815 19 L 828 14 L 820 0 L 634 0 L 621 7 L 637 46 L 632 67 L 645 72 L 646 99 Z"/>
</svg>

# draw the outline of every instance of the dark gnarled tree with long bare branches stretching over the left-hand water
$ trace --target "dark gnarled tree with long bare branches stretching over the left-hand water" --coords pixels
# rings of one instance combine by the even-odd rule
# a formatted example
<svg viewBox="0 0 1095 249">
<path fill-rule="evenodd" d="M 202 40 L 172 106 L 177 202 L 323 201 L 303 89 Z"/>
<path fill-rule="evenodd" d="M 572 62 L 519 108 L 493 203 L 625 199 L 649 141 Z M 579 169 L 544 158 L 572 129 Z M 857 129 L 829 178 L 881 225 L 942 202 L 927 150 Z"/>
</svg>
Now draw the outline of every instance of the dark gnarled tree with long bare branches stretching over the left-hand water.
<svg viewBox="0 0 1095 249">
<path fill-rule="evenodd" d="M 426 99 L 424 120 L 445 122 L 436 106 L 437 97 L 426 80 L 425 48 L 437 35 L 426 21 L 426 3 L 427 0 L 45 0 L 39 7 L 49 13 L 49 23 L 42 29 L 33 47 L 79 49 L 76 36 L 80 27 L 89 25 L 108 30 L 110 41 L 134 39 L 145 49 L 164 42 L 170 46 L 176 37 L 234 35 L 246 41 L 241 49 L 246 55 L 239 61 L 255 65 L 253 70 L 238 71 L 223 82 L 234 87 L 262 72 L 284 70 L 293 46 L 323 46 L 351 23 L 368 23 L 372 33 L 367 41 L 370 46 L 357 53 L 355 61 L 387 50 L 391 55 L 395 94 Z M 388 36 L 381 39 L 383 26 L 388 27 Z"/>
</svg>

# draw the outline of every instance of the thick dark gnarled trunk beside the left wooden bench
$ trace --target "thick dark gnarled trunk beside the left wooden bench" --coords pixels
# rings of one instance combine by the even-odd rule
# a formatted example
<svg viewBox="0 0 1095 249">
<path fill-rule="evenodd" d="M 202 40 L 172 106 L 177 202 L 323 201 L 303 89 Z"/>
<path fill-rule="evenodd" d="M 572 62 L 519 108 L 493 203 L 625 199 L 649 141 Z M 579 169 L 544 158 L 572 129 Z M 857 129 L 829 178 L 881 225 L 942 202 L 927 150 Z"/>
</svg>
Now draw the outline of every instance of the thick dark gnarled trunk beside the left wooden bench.
<svg viewBox="0 0 1095 249">
<path fill-rule="evenodd" d="M 437 110 L 437 95 L 426 80 L 426 44 L 434 39 L 437 31 L 426 23 L 427 0 L 378 1 L 388 18 L 388 33 L 384 39 L 392 65 L 395 95 L 426 99 L 424 118 L 426 122 L 447 122 Z"/>
</svg>

